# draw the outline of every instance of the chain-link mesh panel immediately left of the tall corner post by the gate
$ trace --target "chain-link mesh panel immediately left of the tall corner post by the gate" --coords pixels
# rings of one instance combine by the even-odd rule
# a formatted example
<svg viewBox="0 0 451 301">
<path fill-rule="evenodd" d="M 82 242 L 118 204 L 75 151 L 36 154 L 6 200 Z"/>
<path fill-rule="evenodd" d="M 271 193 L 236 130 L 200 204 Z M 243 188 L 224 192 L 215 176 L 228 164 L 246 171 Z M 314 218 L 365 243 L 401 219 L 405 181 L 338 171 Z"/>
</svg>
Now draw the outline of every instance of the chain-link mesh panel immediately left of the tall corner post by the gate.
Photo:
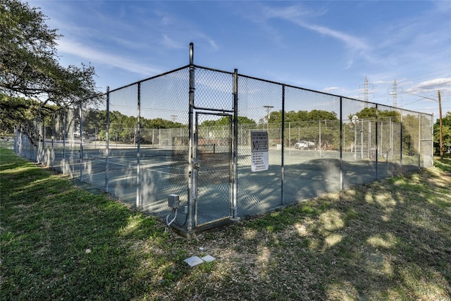
<svg viewBox="0 0 451 301">
<path fill-rule="evenodd" d="M 159 216 L 171 212 L 168 195 L 178 195 L 181 208 L 187 204 L 188 75 L 185 68 L 140 86 L 140 205 Z M 183 217 L 175 221 L 178 226 L 185 222 Z"/>
</svg>

